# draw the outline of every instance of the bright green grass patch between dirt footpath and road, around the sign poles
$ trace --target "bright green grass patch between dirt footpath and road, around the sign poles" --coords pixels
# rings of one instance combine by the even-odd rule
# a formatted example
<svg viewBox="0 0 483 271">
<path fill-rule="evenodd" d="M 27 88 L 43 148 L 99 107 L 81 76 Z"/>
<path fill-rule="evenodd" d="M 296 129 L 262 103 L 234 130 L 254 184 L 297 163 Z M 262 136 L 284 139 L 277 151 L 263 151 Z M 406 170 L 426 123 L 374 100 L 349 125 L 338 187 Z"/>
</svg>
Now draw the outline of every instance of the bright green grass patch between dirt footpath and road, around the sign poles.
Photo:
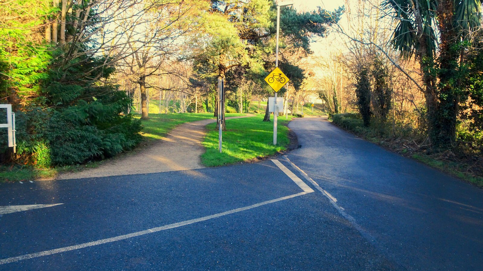
<svg viewBox="0 0 483 271">
<path fill-rule="evenodd" d="M 285 150 L 290 140 L 286 124 L 291 120 L 278 119 L 277 145 L 273 146 L 273 122 L 263 122 L 263 114 L 255 117 L 227 120 L 227 131 L 223 132 L 223 152 L 218 150 L 216 123 L 207 126 L 201 155 L 205 166 L 218 166 L 249 161 Z"/>
</svg>

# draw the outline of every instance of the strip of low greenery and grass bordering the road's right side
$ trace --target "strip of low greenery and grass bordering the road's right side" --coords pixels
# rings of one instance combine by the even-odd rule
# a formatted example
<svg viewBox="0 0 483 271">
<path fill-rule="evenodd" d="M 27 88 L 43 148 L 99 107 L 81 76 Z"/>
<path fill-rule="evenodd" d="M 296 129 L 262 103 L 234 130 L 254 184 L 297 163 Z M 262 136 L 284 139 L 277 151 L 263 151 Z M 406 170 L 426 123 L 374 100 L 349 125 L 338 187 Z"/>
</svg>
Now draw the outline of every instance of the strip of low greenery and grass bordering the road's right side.
<svg viewBox="0 0 483 271">
<path fill-rule="evenodd" d="M 401 140 L 390 136 L 391 129 L 387 126 L 379 124 L 365 127 L 360 116 L 352 113 L 335 114 L 332 117 L 332 123 L 386 149 L 411 157 L 428 166 L 447 172 L 476 186 L 483 187 L 483 177 L 470 174 L 471 168 L 465 161 L 455 158 L 448 159 L 447 156 L 438 153 L 428 154 L 423 149 L 413 148 L 410 140 Z"/>
</svg>

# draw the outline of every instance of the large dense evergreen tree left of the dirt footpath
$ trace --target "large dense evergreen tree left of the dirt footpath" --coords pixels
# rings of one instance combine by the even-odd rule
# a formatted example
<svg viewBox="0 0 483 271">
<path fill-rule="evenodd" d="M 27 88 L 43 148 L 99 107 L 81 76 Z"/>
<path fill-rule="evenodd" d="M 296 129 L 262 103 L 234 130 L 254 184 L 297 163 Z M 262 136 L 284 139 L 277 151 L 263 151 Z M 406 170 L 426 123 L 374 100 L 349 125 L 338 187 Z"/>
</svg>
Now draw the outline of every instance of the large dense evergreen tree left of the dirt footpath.
<svg viewBox="0 0 483 271">
<path fill-rule="evenodd" d="M 93 39 L 132 2 L 54 3 L 15 0 L 1 10 L 0 94 L 17 112 L 16 159 L 48 167 L 133 148 L 141 125 L 124 112 L 128 96 L 110 81 L 115 57 Z"/>
</svg>

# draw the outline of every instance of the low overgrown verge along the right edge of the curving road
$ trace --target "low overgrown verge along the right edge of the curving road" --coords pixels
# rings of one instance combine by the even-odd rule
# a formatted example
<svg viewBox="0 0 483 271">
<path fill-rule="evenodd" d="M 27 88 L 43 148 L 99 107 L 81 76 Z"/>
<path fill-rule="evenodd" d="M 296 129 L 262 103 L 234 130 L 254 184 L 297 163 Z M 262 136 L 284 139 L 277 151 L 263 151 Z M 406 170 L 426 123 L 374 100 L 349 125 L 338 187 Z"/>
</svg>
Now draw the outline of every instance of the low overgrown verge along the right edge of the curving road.
<svg viewBox="0 0 483 271">
<path fill-rule="evenodd" d="M 406 157 L 411 157 L 412 159 L 439 169 L 440 171 L 449 173 L 478 187 L 483 187 L 483 177 L 467 173 L 464 163 L 439 160 L 437 157 L 432 157 L 422 151 L 408 151 L 408 149 L 402 149 L 399 151 L 400 146 L 386 144 L 384 140 L 390 139 L 387 136 L 389 133 L 383 131 L 384 129 L 376 131 L 376 129 L 371 126 L 365 127 L 362 119 L 357 114 L 335 114 L 332 117 L 332 123 L 386 149 L 398 152 Z"/>
</svg>

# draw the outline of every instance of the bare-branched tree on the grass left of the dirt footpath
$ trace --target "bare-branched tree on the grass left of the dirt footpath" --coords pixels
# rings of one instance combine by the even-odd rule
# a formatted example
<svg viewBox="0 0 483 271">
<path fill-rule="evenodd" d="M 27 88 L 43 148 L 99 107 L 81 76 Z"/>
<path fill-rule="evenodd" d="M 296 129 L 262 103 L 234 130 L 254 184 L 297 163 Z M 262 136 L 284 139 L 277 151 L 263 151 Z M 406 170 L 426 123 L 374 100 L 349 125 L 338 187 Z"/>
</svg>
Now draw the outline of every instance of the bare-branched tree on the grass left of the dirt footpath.
<svg viewBox="0 0 483 271">
<path fill-rule="evenodd" d="M 143 6 L 135 10 L 142 9 Z M 136 17 L 143 23 L 128 32 L 126 45 L 129 55 L 121 64 L 140 87 L 141 119 L 148 119 L 147 78 L 175 75 L 187 81 L 183 69 L 175 69 L 183 55 L 183 40 L 198 27 L 196 19 L 206 5 L 199 1 L 160 1 Z M 179 66 L 178 66 L 179 67 Z"/>
</svg>

